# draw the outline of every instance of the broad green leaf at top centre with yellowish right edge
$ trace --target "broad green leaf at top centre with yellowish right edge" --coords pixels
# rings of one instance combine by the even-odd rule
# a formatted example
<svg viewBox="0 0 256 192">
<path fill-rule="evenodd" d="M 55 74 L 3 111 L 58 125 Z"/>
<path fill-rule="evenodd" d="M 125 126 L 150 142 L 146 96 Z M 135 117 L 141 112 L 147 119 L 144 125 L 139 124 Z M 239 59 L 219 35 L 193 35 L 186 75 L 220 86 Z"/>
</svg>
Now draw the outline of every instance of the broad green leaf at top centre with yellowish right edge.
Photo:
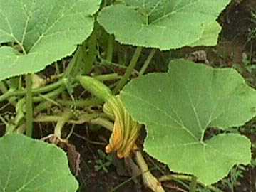
<svg viewBox="0 0 256 192">
<path fill-rule="evenodd" d="M 101 10 L 98 22 L 117 41 L 134 46 L 170 50 L 197 46 L 198 41 L 216 22 L 220 11 L 230 0 L 124 0 L 123 4 Z M 214 26 L 213 26 L 214 25 Z M 211 26 L 208 36 L 213 46 L 220 26 Z M 199 43 L 201 44 L 201 43 Z"/>
</svg>

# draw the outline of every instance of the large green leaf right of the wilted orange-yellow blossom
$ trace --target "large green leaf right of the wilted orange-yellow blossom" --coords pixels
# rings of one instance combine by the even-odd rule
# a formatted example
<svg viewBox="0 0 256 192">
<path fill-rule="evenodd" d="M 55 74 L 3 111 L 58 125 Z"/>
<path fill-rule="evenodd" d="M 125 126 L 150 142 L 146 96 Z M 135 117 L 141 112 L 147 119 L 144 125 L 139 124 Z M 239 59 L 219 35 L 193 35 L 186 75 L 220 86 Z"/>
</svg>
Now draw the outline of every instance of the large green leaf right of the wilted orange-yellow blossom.
<svg viewBox="0 0 256 192">
<path fill-rule="evenodd" d="M 256 115 L 256 91 L 236 70 L 175 60 L 168 73 L 132 80 L 121 99 L 148 128 L 146 151 L 172 171 L 211 184 L 235 164 L 250 163 L 247 137 L 230 133 L 209 139 L 206 132 L 240 126 Z"/>
</svg>

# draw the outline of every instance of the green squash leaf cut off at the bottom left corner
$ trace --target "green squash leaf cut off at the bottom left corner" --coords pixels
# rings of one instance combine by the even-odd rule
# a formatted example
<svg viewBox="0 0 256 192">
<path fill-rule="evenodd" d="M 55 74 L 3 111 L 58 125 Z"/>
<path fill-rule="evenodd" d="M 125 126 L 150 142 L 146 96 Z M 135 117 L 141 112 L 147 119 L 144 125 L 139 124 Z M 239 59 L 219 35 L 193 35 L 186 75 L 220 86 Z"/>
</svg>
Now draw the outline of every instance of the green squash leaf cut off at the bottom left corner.
<svg viewBox="0 0 256 192">
<path fill-rule="evenodd" d="M 21 134 L 0 138 L 0 191 L 75 192 L 76 178 L 62 149 Z"/>
</svg>

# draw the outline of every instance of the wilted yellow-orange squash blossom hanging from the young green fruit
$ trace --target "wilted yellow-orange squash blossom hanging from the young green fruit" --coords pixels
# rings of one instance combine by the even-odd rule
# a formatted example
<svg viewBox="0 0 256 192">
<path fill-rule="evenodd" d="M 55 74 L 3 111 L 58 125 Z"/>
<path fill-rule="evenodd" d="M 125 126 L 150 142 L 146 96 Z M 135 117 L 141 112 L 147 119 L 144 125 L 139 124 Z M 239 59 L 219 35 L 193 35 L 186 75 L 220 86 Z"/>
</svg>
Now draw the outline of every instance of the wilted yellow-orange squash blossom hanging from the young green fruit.
<svg viewBox="0 0 256 192">
<path fill-rule="evenodd" d="M 119 95 L 109 98 L 103 106 L 103 111 L 114 119 L 114 128 L 106 146 L 106 153 L 117 151 L 119 158 L 128 157 L 131 151 L 137 149 L 135 141 L 141 125 L 130 117 Z"/>
</svg>

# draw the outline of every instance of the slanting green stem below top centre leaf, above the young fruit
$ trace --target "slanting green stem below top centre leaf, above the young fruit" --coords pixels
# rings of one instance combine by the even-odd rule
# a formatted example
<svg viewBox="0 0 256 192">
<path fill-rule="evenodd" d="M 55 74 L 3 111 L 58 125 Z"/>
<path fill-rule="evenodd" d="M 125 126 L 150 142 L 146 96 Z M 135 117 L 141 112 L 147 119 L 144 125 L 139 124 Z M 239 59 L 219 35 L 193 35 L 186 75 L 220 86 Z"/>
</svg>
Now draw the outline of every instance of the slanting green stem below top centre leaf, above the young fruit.
<svg viewBox="0 0 256 192">
<path fill-rule="evenodd" d="M 124 85 L 126 85 L 126 82 L 130 78 L 130 75 L 133 73 L 133 69 L 137 64 L 138 58 L 140 57 L 141 50 L 142 50 L 142 47 L 136 48 L 133 58 L 130 60 L 130 64 L 126 69 L 125 75 L 123 75 L 123 78 L 121 78 L 121 80 L 118 82 L 118 85 L 116 85 L 115 89 L 113 90 L 115 94 L 118 93 L 123 88 Z"/>
</svg>

